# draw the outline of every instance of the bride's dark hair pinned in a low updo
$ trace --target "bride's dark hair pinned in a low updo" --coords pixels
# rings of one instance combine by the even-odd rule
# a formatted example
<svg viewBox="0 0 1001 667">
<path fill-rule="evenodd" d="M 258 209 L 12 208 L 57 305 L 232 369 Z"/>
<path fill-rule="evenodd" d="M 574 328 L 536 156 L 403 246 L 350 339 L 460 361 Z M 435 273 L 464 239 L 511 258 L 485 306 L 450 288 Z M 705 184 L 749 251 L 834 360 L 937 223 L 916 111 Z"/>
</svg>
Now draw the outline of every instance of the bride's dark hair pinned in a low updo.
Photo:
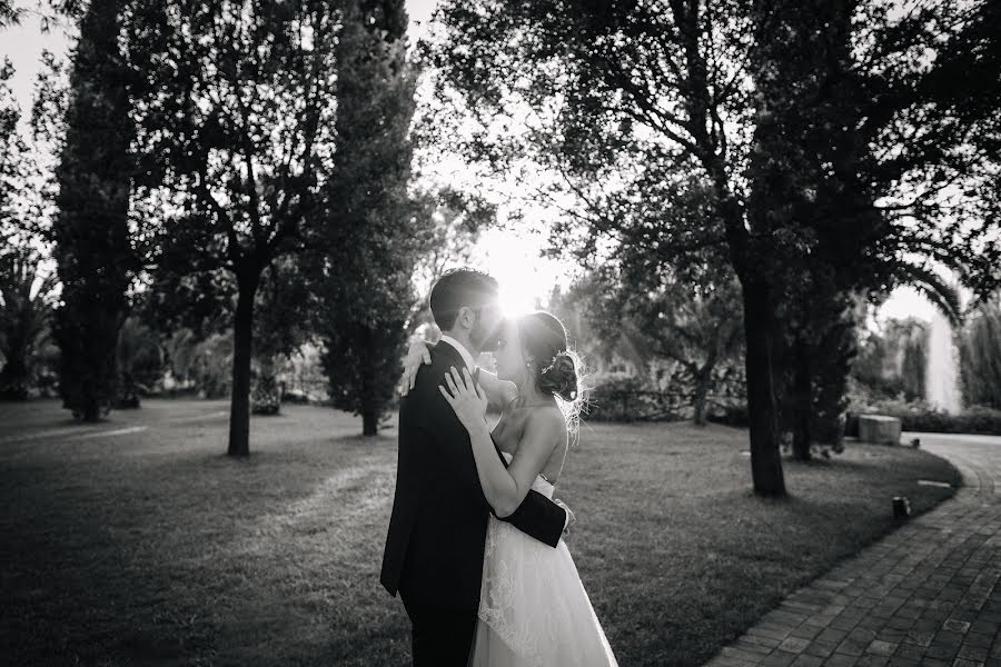
<svg viewBox="0 0 1001 667">
<path fill-rule="evenodd" d="M 583 369 L 577 355 L 567 349 L 563 322 L 542 310 L 529 312 L 518 318 L 518 336 L 536 387 L 559 399 L 567 422 L 575 422 L 584 398 Z"/>
</svg>

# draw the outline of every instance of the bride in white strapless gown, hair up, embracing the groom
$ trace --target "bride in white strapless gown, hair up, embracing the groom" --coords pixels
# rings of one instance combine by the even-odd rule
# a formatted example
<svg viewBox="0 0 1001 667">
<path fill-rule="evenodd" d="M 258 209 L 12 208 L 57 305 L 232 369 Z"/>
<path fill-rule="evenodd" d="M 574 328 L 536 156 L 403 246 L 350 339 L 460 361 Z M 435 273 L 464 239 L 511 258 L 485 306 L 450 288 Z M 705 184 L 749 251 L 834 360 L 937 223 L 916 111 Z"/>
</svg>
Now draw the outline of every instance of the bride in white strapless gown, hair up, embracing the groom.
<svg viewBox="0 0 1001 667">
<path fill-rule="evenodd" d="M 405 382 L 426 354 L 419 347 L 408 355 Z M 553 497 L 579 389 L 566 330 L 547 312 L 505 322 L 494 358 L 496 376 L 480 371 L 474 384 L 468 370 L 453 368 L 439 389 L 469 432 L 484 495 L 506 517 L 529 489 Z M 488 400 L 504 406 L 493 431 L 485 419 Z M 473 667 L 617 665 L 566 544 L 553 549 L 493 516 L 477 616 Z"/>
</svg>

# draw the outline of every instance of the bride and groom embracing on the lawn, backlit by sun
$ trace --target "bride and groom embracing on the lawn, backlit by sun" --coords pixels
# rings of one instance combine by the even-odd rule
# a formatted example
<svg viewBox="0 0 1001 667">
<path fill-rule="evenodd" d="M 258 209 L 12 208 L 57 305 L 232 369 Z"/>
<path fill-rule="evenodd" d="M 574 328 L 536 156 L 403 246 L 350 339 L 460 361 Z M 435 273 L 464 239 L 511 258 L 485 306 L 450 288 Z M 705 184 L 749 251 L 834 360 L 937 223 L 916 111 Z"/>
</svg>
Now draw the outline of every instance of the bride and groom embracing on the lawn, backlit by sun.
<svg viewBox="0 0 1001 667">
<path fill-rule="evenodd" d="M 469 269 L 435 283 L 430 309 L 443 336 L 407 355 L 380 577 L 410 618 L 414 665 L 616 665 L 561 539 L 573 514 L 553 500 L 579 408 L 563 325 L 504 319 L 497 281 Z M 475 366 L 484 351 L 497 375 Z M 503 406 L 493 431 L 488 401 Z"/>
</svg>

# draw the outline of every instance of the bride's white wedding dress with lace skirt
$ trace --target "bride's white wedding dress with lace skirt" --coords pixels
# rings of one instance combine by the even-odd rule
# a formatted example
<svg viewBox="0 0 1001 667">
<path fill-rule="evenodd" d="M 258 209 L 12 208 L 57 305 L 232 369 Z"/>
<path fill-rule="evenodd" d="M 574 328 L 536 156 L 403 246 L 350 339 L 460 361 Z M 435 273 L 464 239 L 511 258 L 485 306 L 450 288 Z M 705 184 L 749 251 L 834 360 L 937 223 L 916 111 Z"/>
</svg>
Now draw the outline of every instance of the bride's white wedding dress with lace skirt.
<svg viewBox="0 0 1001 667">
<path fill-rule="evenodd" d="M 553 497 L 542 477 L 532 488 Z M 618 665 L 564 541 L 554 549 L 493 516 L 478 616 L 470 667 Z"/>
</svg>

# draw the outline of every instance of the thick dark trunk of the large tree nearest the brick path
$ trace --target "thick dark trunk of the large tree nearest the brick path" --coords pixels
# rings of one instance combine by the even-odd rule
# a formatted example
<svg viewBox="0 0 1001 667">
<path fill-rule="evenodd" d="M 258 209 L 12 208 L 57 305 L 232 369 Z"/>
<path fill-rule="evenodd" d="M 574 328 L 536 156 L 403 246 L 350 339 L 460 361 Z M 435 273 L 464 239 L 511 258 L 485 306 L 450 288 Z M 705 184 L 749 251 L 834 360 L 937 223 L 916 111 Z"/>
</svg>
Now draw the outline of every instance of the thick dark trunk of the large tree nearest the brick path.
<svg viewBox="0 0 1001 667">
<path fill-rule="evenodd" d="M 747 414 L 751 425 L 751 478 L 759 496 L 784 496 L 779 451 L 779 411 L 772 367 L 771 299 L 767 285 L 741 280 L 747 344 Z"/>
</svg>

